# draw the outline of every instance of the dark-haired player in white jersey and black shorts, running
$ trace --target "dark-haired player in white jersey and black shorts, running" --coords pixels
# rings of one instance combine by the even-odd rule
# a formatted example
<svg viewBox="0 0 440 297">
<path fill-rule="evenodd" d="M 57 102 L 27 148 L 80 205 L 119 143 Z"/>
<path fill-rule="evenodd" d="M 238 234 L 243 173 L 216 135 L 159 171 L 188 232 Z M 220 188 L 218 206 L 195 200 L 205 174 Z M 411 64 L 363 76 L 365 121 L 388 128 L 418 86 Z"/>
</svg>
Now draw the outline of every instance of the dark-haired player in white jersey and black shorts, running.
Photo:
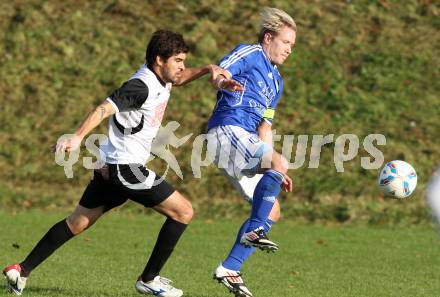
<svg viewBox="0 0 440 297">
<path fill-rule="evenodd" d="M 11 293 L 21 295 L 29 274 L 56 249 L 92 226 L 110 209 L 131 199 L 167 217 L 144 271 L 136 282 L 142 294 L 178 297 L 183 292 L 159 276 L 177 241 L 191 221 L 191 203 L 179 192 L 144 167 L 150 146 L 162 121 L 172 85 L 182 85 L 204 74 L 212 79 L 226 73 L 215 65 L 185 68 L 188 46 L 171 31 L 153 34 L 146 51 L 146 63 L 88 115 L 75 136 L 57 143 L 57 151 L 78 148 L 82 139 L 105 118 L 109 120 L 109 141 L 101 146 L 106 165 L 94 171 L 78 206 L 55 224 L 19 264 L 3 270 Z M 234 81 L 227 88 L 240 89 Z"/>
</svg>

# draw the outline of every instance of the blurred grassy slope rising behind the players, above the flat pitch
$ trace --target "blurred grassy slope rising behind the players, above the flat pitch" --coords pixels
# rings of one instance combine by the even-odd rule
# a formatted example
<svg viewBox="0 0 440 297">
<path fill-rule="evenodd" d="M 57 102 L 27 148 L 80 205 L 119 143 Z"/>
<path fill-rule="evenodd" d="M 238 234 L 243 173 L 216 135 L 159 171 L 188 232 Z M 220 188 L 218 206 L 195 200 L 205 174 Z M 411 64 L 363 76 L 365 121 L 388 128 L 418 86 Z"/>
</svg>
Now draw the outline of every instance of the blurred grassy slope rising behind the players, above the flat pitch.
<svg viewBox="0 0 440 297">
<path fill-rule="evenodd" d="M 190 44 L 187 66 L 217 63 L 238 43 L 254 43 L 259 10 L 275 6 L 298 25 L 293 54 L 280 67 L 285 91 L 278 134 L 381 133 L 385 161 L 403 159 L 419 176 L 414 195 L 385 198 L 377 170 L 358 157 L 337 173 L 334 143 L 319 168 L 290 171 L 295 189 L 280 197 L 285 219 L 305 222 L 420 223 L 430 220 L 425 189 L 440 163 L 440 7 L 438 1 L 4 1 L 0 4 L 0 206 L 73 207 L 92 172 L 78 162 L 67 179 L 52 144 L 144 61 L 151 33 L 166 28 Z M 179 136 L 204 133 L 215 104 L 207 78 L 176 88 L 163 124 Z M 106 133 L 102 124 L 97 132 Z M 242 201 L 211 165 L 192 175 L 192 140 L 173 149 L 184 179 L 167 180 L 199 217 L 244 213 Z M 296 144 L 296 138 L 295 142 Z M 295 152 L 296 146 L 293 147 Z M 83 151 L 85 151 L 83 149 Z M 81 160 L 81 159 L 80 159 Z M 165 163 L 155 160 L 158 173 Z M 128 204 L 127 211 L 139 207 Z"/>
</svg>

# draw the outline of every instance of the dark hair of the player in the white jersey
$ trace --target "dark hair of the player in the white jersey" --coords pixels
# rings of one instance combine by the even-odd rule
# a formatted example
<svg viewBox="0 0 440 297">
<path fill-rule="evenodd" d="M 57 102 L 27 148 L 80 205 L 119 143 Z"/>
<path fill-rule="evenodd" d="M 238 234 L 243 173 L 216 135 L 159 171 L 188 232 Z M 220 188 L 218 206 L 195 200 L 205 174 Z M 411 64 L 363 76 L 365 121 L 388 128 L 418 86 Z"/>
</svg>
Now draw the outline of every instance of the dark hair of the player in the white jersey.
<svg viewBox="0 0 440 297">
<path fill-rule="evenodd" d="M 188 45 L 183 36 L 168 30 L 158 30 L 151 36 L 145 54 L 145 63 L 148 67 L 152 67 L 159 56 L 165 61 L 173 55 L 188 52 Z"/>
</svg>

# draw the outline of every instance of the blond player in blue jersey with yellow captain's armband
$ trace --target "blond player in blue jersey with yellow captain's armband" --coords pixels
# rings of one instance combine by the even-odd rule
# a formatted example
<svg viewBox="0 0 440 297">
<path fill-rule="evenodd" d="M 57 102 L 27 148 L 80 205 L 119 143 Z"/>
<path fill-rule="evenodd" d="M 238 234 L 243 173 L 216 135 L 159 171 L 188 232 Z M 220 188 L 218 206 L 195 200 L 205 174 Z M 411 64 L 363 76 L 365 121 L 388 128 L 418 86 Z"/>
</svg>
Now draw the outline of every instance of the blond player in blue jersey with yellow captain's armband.
<svg viewBox="0 0 440 297">
<path fill-rule="evenodd" d="M 208 152 L 214 163 L 252 203 L 229 256 L 217 267 L 214 279 L 235 296 L 252 296 L 239 272 L 256 248 L 276 251 L 267 232 L 280 217 L 277 196 L 292 191 L 287 161 L 272 148 L 272 119 L 283 91 L 278 65 L 295 44 L 296 24 L 284 11 L 265 8 L 257 44 L 241 44 L 226 55 L 220 67 L 231 77 L 219 76 L 217 104 L 208 123 Z M 226 79 L 241 83 L 244 91 L 222 89 Z"/>
</svg>

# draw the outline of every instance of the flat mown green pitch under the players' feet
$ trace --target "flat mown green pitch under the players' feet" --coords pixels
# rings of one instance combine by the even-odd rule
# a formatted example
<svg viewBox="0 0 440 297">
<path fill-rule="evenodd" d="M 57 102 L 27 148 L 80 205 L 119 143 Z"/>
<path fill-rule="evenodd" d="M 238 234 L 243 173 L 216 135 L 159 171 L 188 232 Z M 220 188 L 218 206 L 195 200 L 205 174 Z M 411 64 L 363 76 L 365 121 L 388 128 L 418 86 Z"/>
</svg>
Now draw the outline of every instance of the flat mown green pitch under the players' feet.
<svg viewBox="0 0 440 297">
<path fill-rule="evenodd" d="M 0 265 L 21 260 L 63 216 L 1 211 Z M 162 221 L 155 214 L 106 215 L 35 270 L 25 296 L 137 296 L 134 281 Z M 173 279 L 184 296 L 232 296 L 211 279 L 211 273 L 239 224 L 239 220 L 195 220 L 163 276 Z M 440 241 L 432 226 L 280 222 L 271 238 L 279 242 L 280 251 L 257 252 L 243 268 L 255 297 L 439 296 Z"/>
</svg>

